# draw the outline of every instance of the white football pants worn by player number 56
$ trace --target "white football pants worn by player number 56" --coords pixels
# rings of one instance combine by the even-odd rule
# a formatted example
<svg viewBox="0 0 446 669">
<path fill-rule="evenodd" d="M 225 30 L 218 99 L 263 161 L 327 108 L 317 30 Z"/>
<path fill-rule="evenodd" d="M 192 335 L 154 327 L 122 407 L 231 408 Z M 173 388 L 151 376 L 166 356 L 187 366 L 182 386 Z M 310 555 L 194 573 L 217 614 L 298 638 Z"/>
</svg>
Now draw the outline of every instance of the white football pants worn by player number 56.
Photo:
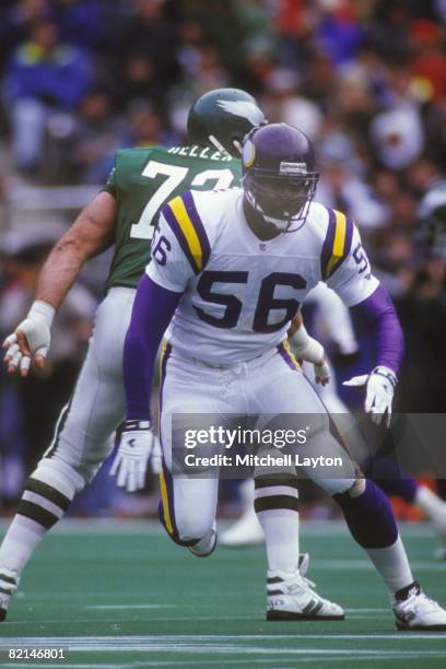
<svg viewBox="0 0 446 669">
<path fill-rule="evenodd" d="M 313 420 L 308 422 L 316 429 L 314 437 L 308 433 L 306 444 L 298 446 L 301 459 L 312 454 L 326 458 L 338 457 L 342 459 L 343 468 L 334 477 L 324 476 L 322 468 L 303 468 L 305 473 L 330 495 L 345 492 L 353 485 L 356 467 L 339 435 L 334 434 L 336 430 L 322 402 L 286 345 L 281 344 L 246 363 L 211 366 L 193 356 L 185 357 L 167 344 L 161 367 L 161 442 L 165 468 L 160 517 L 177 542 L 193 542 L 212 528 L 219 480 L 216 476 L 207 477 L 206 473 L 200 478 L 187 478 L 175 466 L 173 470 L 173 414 L 190 414 L 190 426 L 193 425 L 193 416 L 198 416 L 199 423 L 202 414 L 221 418 L 221 424 L 224 424 L 228 414 L 259 415 L 258 426 L 263 427 L 270 424 L 271 415 L 294 414 L 296 429 L 306 423 L 302 416 L 298 419 L 298 414 L 312 414 Z M 289 426 L 290 416 L 286 416 L 285 422 L 286 425 L 279 416 L 274 426 Z M 180 444 L 178 446 L 181 447 Z M 290 472 L 290 468 L 282 470 Z M 265 473 L 280 472 L 275 469 L 256 471 L 256 476 Z"/>
</svg>

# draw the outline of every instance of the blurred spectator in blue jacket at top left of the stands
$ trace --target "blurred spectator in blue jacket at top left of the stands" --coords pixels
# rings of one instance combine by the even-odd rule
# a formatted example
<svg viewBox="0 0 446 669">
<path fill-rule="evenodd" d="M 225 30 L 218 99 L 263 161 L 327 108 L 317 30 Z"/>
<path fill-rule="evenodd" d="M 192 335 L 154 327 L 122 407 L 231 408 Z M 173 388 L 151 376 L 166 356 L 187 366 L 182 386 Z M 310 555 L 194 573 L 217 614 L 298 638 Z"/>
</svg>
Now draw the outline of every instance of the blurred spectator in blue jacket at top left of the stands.
<svg viewBox="0 0 446 669">
<path fill-rule="evenodd" d="M 31 25 L 30 39 L 13 51 L 4 79 L 12 149 L 20 169 L 35 173 L 42 166 L 49 118 L 73 110 L 92 79 L 87 55 L 60 43 L 54 23 L 38 20 Z"/>
</svg>

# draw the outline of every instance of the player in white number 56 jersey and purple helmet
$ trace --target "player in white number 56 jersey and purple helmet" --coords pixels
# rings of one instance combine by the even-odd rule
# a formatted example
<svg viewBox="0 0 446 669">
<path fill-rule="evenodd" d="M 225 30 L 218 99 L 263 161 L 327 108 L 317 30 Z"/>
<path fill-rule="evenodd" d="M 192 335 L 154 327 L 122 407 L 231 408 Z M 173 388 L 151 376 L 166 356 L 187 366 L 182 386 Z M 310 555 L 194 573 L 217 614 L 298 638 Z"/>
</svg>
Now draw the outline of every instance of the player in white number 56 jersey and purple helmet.
<svg viewBox="0 0 446 669">
<path fill-rule="evenodd" d="M 168 327 L 161 365 L 160 510 L 169 536 L 200 555 L 216 541 L 216 478 L 172 474 L 175 414 L 191 414 L 191 421 L 203 413 L 316 415 L 317 437 L 302 453 L 310 447 L 339 457 L 344 467 L 341 476 L 310 467 L 306 473 L 333 495 L 382 575 L 398 629 L 446 630 L 446 611 L 412 576 L 387 497 L 345 457 L 285 343 L 300 304 L 325 281 L 375 333 L 365 410 L 376 422 L 385 414 L 389 422 L 403 348 L 392 303 L 371 272 L 353 222 L 313 201 L 318 173 L 304 133 L 285 124 L 254 129 L 243 163 L 243 188 L 189 191 L 162 210 L 125 343 L 127 420 L 118 458 L 152 438 L 151 379 Z M 292 480 L 284 471 L 280 494 L 290 500 Z M 271 476 L 257 476 L 255 505 L 267 539 L 267 618 L 302 619 L 325 602 L 298 572 L 293 516 L 274 513 L 280 494 Z M 334 608 L 333 618 L 337 613 Z"/>
</svg>

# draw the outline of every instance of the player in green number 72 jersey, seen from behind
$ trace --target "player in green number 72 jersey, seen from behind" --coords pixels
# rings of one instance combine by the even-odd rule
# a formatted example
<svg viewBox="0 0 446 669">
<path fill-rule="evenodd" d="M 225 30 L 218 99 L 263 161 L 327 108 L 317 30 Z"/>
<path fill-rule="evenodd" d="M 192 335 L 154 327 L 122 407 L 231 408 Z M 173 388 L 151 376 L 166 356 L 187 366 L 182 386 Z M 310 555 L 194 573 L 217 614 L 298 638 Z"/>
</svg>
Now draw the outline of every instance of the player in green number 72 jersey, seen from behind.
<svg viewBox="0 0 446 669">
<path fill-rule="evenodd" d="M 221 89 L 201 96 L 188 117 L 187 146 L 119 151 L 104 189 L 56 244 L 46 261 L 27 317 L 5 342 L 9 372 L 25 377 L 31 361 L 43 367 L 57 309 L 89 258 L 115 246 L 94 333 L 55 437 L 26 488 L 0 547 L 0 620 L 7 617 L 21 574 L 46 532 L 73 496 L 93 479 L 113 449 L 110 435 L 125 415 L 122 348 L 136 287 L 150 259 L 157 212 L 192 189 L 227 188 L 239 181 L 242 142 L 266 122 L 248 93 Z M 138 444 L 136 444 L 138 446 Z M 160 462 L 155 439 L 120 461 L 118 485 L 142 488 L 146 463 Z M 156 466 L 153 467 L 153 463 Z"/>
</svg>

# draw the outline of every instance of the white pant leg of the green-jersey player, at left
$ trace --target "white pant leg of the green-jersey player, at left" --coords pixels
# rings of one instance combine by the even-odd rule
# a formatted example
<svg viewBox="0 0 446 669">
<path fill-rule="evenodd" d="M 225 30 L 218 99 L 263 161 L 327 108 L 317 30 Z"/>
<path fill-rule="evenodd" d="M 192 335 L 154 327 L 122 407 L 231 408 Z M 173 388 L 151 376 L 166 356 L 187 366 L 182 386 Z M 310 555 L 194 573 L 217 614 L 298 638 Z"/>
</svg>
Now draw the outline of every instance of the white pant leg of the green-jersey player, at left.
<svg viewBox="0 0 446 669">
<path fill-rule="evenodd" d="M 73 395 L 32 477 L 72 498 L 113 450 L 110 435 L 125 416 L 122 351 L 136 291 L 111 289 L 97 308 L 94 330 Z M 63 486 L 64 488 L 64 486 Z M 70 494 L 69 494 L 70 493 Z"/>
</svg>

